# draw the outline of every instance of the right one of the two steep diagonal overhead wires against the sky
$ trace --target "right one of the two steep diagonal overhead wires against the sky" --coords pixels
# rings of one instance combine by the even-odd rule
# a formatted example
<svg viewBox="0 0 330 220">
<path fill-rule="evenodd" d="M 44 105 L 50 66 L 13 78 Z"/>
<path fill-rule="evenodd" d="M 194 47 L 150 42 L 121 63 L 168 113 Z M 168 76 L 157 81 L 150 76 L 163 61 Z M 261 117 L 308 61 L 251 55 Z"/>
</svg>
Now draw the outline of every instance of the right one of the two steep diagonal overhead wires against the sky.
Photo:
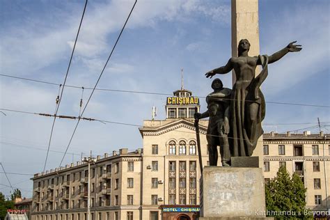
<svg viewBox="0 0 330 220">
<path fill-rule="evenodd" d="M 65 153 L 64 153 L 64 155 L 63 155 L 63 158 L 62 158 L 61 163 L 60 163 L 59 166 L 62 165 L 62 162 L 63 162 L 63 160 L 64 160 L 64 158 L 65 158 L 66 152 L 68 151 L 68 149 L 69 149 L 69 147 L 70 147 L 70 143 L 71 143 L 71 141 L 72 141 L 72 139 L 73 139 L 73 136 L 74 136 L 74 134 L 75 134 L 75 132 L 76 132 L 76 130 L 77 130 L 77 127 L 78 127 L 78 125 L 79 125 L 80 117 L 83 116 L 83 114 L 84 114 L 84 112 L 85 112 L 85 110 L 86 110 L 86 107 L 88 106 L 88 103 L 89 103 L 89 101 L 91 100 L 91 97 L 93 96 L 93 93 L 94 93 L 94 91 L 95 91 L 95 88 L 96 88 L 97 84 L 99 83 L 99 81 L 100 81 L 100 79 L 101 79 L 101 77 L 102 77 L 102 74 L 103 74 L 105 68 L 107 67 L 107 64 L 108 64 L 108 62 L 109 62 L 109 60 L 110 60 L 110 58 L 111 58 L 111 56 L 112 56 L 112 54 L 113 54 L 113 51 L 114 51 L 114 49 L 116 48 L 116 45 L 117 45 L 117 43 L 118 43 L 118 40 L 120 39 L 120 36 L 121 36 L 121 34 L 123 33 L 123 31 L 124 31 L 124 29 L 125 29 L 125 26 L 126 26 L 126 24 L 127 24 L 127 22 L 128 22 L 128 19 L 129 19 L 129 17 L 131 16 L 131 14 L 132 14 L 132 12 L 133 12 L 133 10 L 134 10 L 134 7 L 135 7 L 135 5 L 136 5 L 136 2 L 137 2 L 137 0 L 135 0 L 134 5 L 132 6 L 132 9 L 131 9 L 131 11 L 129 12 L 129 15 L 128 15 L 126 21 L 125 21 L 125 24 L 124 24 L 124 26 L 123 26 L 123 29 L 121 29 L 121 31 L 120 31 L 120 33 L 119 33 L 119 36 L 118 36 L 118 38 L 117 38 L 117 40 L 116 40 L 116 43 L 115 43 L 115 45 L 113 45 L 113 48 L 112 48 L 112 50 L 111 50 L 111 53 L 109 54 L 109 57 L 108 57 L 108 59 L 107 59 L 107 62 L 105 63 L 104 68 L 102 69 L 102 72 L 100 73 L 100 77 L 97 79 L 96 84 L 95 84 L 95 86 L 94 86 L 94 88 L 93 88 L 93 91 L 91 92 L 91 95 L 88 97 L 88 101 L 86 102 L 86 105 L 85 105 L 83 111 L 81 112 L 81 115 L 79 116 L 78 122 L 77 122 L 77 124 L 76 124 L 76 127 L 74 127 L 74 131 L 73 131 L 73 133 L 72 133 L 72 136 L 71 136 L 71 138 L 70 138 L 70 141 L 69 141 L 69 143 L 68 143 L 68 146 L 67 146 L 67 148 L 66 148 L 66 150 L 65 150 Z"/>
</svg>

